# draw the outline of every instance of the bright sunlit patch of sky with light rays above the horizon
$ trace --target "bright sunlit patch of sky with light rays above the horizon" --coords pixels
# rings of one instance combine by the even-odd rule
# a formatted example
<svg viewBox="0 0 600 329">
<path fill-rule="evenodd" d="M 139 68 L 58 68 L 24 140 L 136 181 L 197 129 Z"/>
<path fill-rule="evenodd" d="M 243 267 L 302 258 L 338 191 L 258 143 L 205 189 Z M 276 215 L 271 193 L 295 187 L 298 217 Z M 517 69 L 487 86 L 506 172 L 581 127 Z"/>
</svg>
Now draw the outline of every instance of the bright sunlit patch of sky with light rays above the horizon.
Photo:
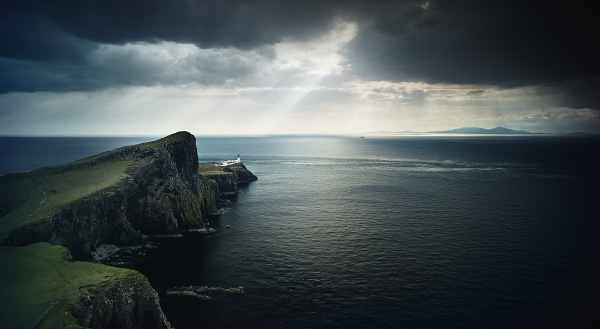
<svg viewBox="0 0 600 329">
<path fill-rule="evenodd" d="M 424 7 L 426 8 L 426 7 Z M 536 87 L 367 81 L 348 71 L 357 25 L 240 50 L 163 42 L 102 45 L 90 75 L 126 86 L 0 95 L 0 135 L 318 134 L 507 126 L 595 131 L 598 111 Z"/>
</svg>

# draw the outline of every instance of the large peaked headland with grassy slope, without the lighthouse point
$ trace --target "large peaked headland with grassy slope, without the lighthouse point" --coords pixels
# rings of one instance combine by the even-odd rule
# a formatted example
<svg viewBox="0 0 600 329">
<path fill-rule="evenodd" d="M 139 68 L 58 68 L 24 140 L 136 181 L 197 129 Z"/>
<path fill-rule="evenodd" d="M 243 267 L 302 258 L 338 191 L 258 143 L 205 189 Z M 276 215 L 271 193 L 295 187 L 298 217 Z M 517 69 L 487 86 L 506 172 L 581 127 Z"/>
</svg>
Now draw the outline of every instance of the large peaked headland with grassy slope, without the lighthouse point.
<svg viewBox="0 0 600 329">
<path fill-rule="evenodd" d="M 195 137 L 179 132 L 63 166 L 0 177 L 0 239 L 49 242 L 89 259 L 103 243 L 139 244 L 142 234 L 204 226 L 219 207 L 198 175 Z"/>
</svg>

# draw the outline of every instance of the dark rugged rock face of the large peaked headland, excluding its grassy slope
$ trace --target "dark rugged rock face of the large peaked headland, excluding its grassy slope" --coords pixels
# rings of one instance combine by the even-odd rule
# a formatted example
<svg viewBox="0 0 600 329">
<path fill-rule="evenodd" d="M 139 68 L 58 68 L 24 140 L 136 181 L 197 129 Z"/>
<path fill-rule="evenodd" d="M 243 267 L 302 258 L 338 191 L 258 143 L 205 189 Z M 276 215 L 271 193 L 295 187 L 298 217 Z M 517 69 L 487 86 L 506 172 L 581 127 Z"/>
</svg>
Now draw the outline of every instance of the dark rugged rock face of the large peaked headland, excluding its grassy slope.
<svg viewBox="0 0 600 329">
<path fill-rule="evenodd" d="M 125 171 L 127 177 L 14 229 L 4 243 L 18 246 L 44 241 L 69 248 L 75 259 L 89 259 L 90 251 L 102 243 L 139 244 L 142 234 L 171 234 L 203 227 L 206 215 L 219 206 L 215 183 L 198 175 L 196 140 L 187 132 L 60 167 L 38 169 L 29 175 L 43 180 L 78 170 L 85 174 L 116 161 L 131 162 Z"/>
</svg>

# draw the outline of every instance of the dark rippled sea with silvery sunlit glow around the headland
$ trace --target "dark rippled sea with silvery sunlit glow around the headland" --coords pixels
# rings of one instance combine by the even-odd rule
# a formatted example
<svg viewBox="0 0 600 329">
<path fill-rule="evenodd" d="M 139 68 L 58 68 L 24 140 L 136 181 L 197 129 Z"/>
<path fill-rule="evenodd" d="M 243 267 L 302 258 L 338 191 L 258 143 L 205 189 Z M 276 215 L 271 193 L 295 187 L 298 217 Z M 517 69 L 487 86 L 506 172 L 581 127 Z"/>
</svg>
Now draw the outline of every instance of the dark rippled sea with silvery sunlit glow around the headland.
<svg viewBox="0 0 600 329">
<path fill-rule="evenodd" d="M 153 138 L 0 138 L 0 174 Z M 599 136 L 199 137 L 241 155 L 210 232 L 149 237 L 177 328 L 596 328 Z M 230 228 L 226 228 L 229 226 Z M 209 298 L 174 287 L 243 287 Z"/>
</svg>

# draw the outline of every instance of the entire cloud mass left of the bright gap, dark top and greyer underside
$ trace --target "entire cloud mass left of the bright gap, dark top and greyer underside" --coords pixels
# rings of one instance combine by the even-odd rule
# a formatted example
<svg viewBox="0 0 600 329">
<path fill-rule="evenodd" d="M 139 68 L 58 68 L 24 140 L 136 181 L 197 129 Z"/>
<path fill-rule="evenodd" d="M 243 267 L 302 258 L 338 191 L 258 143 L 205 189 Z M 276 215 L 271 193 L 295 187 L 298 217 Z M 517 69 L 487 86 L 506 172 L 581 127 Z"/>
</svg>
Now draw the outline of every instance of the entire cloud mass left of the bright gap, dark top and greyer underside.
<svg viewBox="0 0 600 329">
<path fill-rule="evenodd" d="M 335 23 L 337 7 L 318 3 L 3 1 L 0 92 L 223 83 L 252 73 L 262 60 L 274 59 L 276 54 L 265 45 L 283 38 L 310 40 L 328 31 Z M 153 53 L 100 51 L 105 44 L 122 45 L 127 51 L 132 50 L 128 44 L 160 45 L 165 41 L 220 50 L 214 56 L 200 54 L 162 62 L 145 58 Z M 245 51 L 248 61 L 229 54 L 222 59 L 223 52 L 236 49 Z"/>
</svg>

